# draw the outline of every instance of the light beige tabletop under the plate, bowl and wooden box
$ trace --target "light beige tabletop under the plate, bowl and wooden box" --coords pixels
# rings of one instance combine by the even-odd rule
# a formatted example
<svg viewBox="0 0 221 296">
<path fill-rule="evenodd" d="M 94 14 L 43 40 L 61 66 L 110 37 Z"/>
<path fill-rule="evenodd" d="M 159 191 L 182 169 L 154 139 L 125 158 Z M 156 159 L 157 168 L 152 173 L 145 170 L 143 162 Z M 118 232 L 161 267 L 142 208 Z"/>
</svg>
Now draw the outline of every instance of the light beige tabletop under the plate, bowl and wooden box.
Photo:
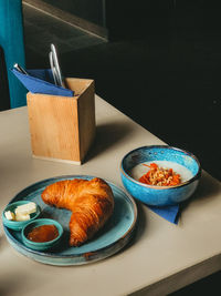
<svg viewBox="0 0 221 296">
<path fill-rule="evenodd" d="M 0 113 L 0 211 L 22 188 L 52 176 L 87 174 L 122 186 L 119 162 L 131 149 L 161 144 L 96 96 L 97 136 L 82 166 L 34 160 L 27 108 Z M 56 267 L 17 253 L 0 228 L 0 295 L 165 295 L 221 269 L 221 185 L 203 172 L 173 225 L 138 203 L 133 244 L 97 263 Z"/>
</svg>

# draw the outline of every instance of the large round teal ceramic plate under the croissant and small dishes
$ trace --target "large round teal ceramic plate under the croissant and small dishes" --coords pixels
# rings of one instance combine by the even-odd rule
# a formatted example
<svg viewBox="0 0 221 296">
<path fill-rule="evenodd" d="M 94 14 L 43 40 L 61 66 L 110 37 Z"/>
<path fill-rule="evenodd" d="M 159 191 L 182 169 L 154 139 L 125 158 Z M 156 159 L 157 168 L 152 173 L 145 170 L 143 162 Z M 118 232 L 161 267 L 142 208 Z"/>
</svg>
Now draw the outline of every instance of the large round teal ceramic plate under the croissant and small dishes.
<svg viewBox="0 0 221 296">
<path fill-rule="evenodd" d="M 91 180 L 93 177 L 94 176 L 87 175 L 53 177 L 38 182 L 18 193 L 10 203 L 17 201 L 35 202 L 42 210 L 40 217 L 57 221 L 63 226 L 64 233 L 62 241 L 57 247 L 53 249 L 53 252 L 41 252 L 27 247 L 22 242 L 21 232 L 15 232 L 4 226 L 7 239 L 12 247 L 22 255 L 34 261 L 60 266 L 81 265 L 104 259 L 122 249 L 133 237 L 137 221 L 136 203 L 122 188 L 107 182 L 114 193 L 114 213 L 106 225 L 94 236 L 94 238 L 80 247 L 69 246 L 69 222 L 71 212 L 45 205 L 41 200 L 42 191 L 51 183 L 66 178 Z"/>
</svg>

